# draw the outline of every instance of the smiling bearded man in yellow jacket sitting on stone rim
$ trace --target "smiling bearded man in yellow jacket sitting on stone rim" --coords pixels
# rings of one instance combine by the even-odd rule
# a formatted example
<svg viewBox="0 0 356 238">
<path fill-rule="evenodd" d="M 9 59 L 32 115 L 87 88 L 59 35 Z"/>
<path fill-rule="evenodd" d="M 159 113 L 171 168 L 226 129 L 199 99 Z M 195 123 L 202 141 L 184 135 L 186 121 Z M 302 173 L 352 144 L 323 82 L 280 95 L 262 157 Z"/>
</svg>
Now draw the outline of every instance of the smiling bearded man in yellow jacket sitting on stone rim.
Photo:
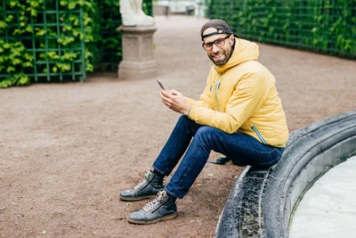
<svg viewBox="0 0 356 238">
<path fill-rule="evenodd" d="M 199 101 L 174 89 L 159 91 L 162 102 L 182 116 L 153 170 L 133 189 L 120 193 L 124 201 L 156 196 L 129 214 L 131 223 L 150 224 L 176 217 L 176 198 L 188 193 L 212 150 L 239 166 L 268 168 L 282 156 L 288 138 L 286 117 L 275 78 L 257 62 L 258 46 L 235 36 L 221 20 L 207 21 L 200 35 L 213 62 L 206 88 Z M 165 187 L 164 176 L 172 172 L 184 152 Z"/>
</svg>

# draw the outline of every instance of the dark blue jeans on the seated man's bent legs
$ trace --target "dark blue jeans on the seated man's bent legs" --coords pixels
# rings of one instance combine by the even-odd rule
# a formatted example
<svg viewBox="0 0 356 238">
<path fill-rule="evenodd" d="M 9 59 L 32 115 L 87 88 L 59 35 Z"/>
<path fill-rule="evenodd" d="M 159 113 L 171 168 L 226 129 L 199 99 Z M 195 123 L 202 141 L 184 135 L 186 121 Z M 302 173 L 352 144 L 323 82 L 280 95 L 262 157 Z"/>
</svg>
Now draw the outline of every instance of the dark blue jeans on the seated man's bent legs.
<svg viewBox="0 0 356 238">
<path fill-rule="evenodd" d="M 182 158 L 181 164 L 166 185 L 169 194 L 182 199 L 206 165 L 212 150 L 224 154 L 239 166 L 265 168 L 276 164 L 283 152 L 283 148 L 262 144 L 251 135 L 228 134 L 214 127 L 198 125 L 182 116 L 153 163 L 153 168 L 168 176 Z"/>
</svg>

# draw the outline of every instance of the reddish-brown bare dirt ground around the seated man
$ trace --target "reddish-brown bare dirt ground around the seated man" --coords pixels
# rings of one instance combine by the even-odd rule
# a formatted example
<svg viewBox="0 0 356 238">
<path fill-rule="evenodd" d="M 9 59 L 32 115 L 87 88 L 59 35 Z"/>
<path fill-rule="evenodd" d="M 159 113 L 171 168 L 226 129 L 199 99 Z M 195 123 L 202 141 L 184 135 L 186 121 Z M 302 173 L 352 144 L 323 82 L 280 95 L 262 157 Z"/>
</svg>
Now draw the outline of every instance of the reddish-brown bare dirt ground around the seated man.
<svg viewBox="0 0 356 238">
<path fill-rule="evenodd" d="M 205 21 L 156 17 L 158 78 L 195 99 L 210 67 L 198 33 Z M 291 132 L 356 110 L 356 62 L 259 45 L 260 62 L 277 78 Z M 156 78 L 116 76 L 0 90 L 0 237 L 214 234 L 243 168 L 207 164 L 177 201 L 179 217 L 150 226 L 127 223 L 127 214 L 147 201 L 119 201 L 118 193 L 142 179 L 179 115 L 160 103 Z"/>
</svg>

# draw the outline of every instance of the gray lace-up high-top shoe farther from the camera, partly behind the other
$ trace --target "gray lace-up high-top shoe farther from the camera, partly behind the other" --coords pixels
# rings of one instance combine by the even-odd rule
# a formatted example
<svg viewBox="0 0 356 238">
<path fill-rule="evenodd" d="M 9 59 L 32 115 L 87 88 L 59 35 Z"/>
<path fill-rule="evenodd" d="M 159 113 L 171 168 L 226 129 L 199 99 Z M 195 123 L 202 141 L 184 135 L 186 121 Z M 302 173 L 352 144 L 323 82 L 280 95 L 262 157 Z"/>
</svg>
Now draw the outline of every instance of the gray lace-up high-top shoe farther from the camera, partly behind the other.
<svg viewBox="0 0 356 238">
<path fill-rule="evenodd" d="M 158 191 L 165 188 L 163 178 L 155 175 L 150 170 L 146 172 L 144 179 L 135 185 L 133 189 L 120 193 L 120 199 L 124 201 L 139 201 L 154 198 Z"/>
</svg>

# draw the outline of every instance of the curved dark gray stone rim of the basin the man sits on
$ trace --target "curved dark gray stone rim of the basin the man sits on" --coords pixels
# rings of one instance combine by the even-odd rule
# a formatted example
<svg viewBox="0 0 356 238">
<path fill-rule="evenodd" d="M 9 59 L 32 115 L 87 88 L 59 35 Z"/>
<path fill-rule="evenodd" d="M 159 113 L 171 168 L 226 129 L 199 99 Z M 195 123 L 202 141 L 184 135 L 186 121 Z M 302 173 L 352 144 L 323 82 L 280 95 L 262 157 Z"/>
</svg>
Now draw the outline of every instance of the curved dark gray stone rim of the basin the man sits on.
<svg viewBox="0 0 356 238">
<path fill-rule="evenodd" d="M 356 111 L 293 132 L 282 160 L 247 167 L 231 188 L 215 237 L 287 237 L 303 194 L 330 168 L 356 154 Z"/>
</svg>

